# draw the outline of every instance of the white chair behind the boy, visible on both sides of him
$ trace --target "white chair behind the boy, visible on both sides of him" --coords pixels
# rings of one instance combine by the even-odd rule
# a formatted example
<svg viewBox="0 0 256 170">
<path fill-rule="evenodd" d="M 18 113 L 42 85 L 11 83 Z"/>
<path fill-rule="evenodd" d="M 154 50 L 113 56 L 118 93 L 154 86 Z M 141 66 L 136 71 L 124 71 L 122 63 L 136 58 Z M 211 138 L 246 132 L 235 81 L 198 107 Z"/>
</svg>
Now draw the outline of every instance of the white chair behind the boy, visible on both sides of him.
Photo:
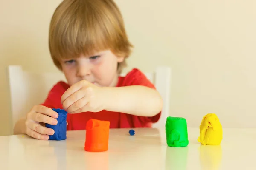
<svg viewBox="0 0 256 170">
<path fill-rule="evenodd" d="M 32 73 L 24 71 L 20 65 L 9 65 L 9 90 L 11 98 L 11 128 L 34 106 L 43 102 L 49 90 L 58 81 L 66 81 L 62 73 Z M 163 127 L 169 116 L 171 69 L 158 67 L 145 74 L 154 83 L 163 97 L 163 110 L 160 120 L 153 127 Z M 11 129 L 11 130 L 12 130 Z"/>
</svg>

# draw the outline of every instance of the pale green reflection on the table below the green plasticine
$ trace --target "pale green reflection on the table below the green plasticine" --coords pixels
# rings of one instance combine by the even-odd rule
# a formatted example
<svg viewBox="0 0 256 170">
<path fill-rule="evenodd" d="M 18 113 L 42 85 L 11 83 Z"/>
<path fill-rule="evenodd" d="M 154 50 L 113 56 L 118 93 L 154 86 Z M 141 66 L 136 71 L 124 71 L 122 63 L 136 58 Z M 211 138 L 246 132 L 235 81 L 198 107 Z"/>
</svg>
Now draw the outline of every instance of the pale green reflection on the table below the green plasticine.
<svg viewBox="0 0 256 170">
<path fill-rule="evenodd" d="M 186 170 L 188 147 L 166 147 L 166 170 Z"/>
</svg>

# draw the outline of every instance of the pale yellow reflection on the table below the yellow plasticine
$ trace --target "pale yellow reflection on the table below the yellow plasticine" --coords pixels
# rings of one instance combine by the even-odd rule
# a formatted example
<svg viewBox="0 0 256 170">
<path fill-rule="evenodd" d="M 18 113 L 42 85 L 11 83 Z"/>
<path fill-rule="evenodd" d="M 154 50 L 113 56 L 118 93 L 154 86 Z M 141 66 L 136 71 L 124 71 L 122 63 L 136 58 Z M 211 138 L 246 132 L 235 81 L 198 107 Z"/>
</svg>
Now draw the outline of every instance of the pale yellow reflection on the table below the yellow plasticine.
<svg viewBox="0 0 256 170">
<path fill-rule="evenodd" d="M 204 170 L 218 170 L 221 165 L 221 145 L 201 145 L 200 152 L 201 167 Z"/>
</svg>

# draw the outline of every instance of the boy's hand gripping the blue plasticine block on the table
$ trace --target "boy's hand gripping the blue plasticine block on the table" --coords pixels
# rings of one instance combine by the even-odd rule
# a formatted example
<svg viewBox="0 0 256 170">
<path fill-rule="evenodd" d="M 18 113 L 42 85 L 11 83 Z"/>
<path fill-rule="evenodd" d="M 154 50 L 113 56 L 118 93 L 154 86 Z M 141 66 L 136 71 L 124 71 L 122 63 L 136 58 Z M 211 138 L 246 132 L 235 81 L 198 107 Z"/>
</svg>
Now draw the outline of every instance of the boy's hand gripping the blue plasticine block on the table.
<svg viewBox="0 0 256 170">
<path fill-rule="evenodd" d="M 50 117 L 49 117 L 50 116 Z M 58 121 L 55 119 L 58 113 L 51 108 L 45 106 L 34 106 L 26 115 L 25 131 L 26 134 L 41 140 L 48 140 L 49 135 L 54 134 L 54 130 L 45 127 L 45 123 L 50 125 L 57 125 Z"/>
</svg>

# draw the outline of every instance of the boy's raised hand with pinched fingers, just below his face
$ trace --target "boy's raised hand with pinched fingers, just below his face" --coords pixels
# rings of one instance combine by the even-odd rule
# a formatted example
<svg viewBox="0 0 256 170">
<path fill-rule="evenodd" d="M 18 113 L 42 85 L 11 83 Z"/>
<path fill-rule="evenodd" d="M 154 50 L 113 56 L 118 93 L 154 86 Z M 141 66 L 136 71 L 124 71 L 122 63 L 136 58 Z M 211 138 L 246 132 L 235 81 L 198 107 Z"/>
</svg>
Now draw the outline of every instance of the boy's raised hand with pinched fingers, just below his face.
<svg viewBox="0 0 256 170">
<path fill-rule="evenodd" d="M 68 113 L 99 112 L 104 109 L 104 97 L 101 87 L 82 80 L 67 89 L 61 103 Z"/>
</svg>

